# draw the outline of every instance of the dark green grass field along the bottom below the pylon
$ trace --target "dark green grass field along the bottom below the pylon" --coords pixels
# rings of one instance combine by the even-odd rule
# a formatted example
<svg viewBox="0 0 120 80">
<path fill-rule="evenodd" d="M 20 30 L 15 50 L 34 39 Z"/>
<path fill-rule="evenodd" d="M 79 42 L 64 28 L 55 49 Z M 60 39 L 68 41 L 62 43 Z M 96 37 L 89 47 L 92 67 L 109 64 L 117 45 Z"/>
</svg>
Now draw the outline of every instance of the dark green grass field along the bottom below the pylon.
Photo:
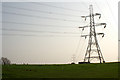
<svg viewBox="0 0 120 80">
<path fill-rule="evenodd" d="M 118 78 L 118 64 L 4 65 L 3 78 Z"/>
</svg>

